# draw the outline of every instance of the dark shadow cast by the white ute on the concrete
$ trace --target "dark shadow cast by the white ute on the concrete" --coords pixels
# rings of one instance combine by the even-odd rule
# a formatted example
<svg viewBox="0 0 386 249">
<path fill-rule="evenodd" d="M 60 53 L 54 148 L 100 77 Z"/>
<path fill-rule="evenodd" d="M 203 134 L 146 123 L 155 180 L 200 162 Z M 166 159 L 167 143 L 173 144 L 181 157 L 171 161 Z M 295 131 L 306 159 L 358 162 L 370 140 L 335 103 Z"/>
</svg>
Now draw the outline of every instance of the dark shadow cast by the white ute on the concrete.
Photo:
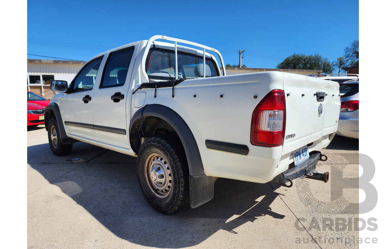
<svg viewBox="0 0 386 249">
<path fill-rule="evenodd" d="M 97 148 L 84 143 L 82 147 L 83 151 Z M 28 154 L 37 150 L 41 160 L 47 157 L 52 161 L 47 155 L 51 154 L 48 144 L 27 147 Z M 71 154 L 68 158 L 73 157 Z M 278 198 L 274 191 L 278 186 L 224 178 L 216 181 L 214 198 L 210 202 L 195 209 L 185 207 L 173 215 L 164 215 L 151 208 L 142 195 L 137 182 L 136 158 L 114 151 L 104 155 L 105 158 L 83 163 L 57 180 L 52 176 L 52 168 L 59 167 L 60 163 L 34 162 L 30 166 L 52 181 L 51 184 L 59 186 L 113 234 L 142 246 L 195 246 L 221 229 L 237 234 L 237 227 L 259 217 L 285 217 L 281 214 L 283 210 L 270 207 Z M 60 158 L 58 161 L 68 161 Z M 109 163 L 114 160 L 115 163 Z"/>
</svg>

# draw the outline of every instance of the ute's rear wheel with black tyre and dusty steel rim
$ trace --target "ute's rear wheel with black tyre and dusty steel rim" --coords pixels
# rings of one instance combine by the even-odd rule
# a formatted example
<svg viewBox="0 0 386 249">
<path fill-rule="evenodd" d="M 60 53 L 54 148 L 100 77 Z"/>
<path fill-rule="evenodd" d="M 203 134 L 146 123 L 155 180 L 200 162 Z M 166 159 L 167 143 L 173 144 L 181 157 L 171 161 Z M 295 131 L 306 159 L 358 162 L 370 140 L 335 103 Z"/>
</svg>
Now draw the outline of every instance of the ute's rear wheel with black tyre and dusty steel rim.
<svg viewBox="0 0 386 249">
<path fill-rule="evenodd" d="M 174 213 L 190 201 L 188 162 L 178 136 L 147 139 L 138 152 L 137 177 L 147 202 L 161 213 Z"/>
</svg>

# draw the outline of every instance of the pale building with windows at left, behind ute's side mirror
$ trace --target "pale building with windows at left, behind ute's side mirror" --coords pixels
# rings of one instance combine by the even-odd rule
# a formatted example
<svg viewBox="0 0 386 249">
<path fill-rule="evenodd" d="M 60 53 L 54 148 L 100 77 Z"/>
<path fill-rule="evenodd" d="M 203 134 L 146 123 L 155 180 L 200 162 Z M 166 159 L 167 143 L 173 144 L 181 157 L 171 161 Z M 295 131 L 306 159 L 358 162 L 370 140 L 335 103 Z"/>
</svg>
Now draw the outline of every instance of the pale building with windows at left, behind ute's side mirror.
<svg viewBox="0 0 386 249">
<path fill-rule="evenodd" d="M 70 83 L 85 61 L 27 59 L 27 90 L 51 98 L 49 84 L 53 80 Z"/>
</svg>

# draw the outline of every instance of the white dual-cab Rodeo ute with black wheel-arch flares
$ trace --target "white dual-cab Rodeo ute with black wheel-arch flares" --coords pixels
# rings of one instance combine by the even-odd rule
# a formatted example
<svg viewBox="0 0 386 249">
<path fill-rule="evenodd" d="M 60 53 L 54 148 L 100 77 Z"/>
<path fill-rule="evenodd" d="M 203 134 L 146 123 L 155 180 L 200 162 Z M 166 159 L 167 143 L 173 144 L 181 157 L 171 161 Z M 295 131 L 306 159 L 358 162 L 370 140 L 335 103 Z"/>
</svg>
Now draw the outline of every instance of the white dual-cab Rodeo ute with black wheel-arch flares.
<svg viewBox="0 0 386 249">
<path fill-rule="evenodd" d="M 211 200 L 219 177 L 327 182 L 315 165 L 337 131 L 339 84 L 224 68 L 216 49 L 166 36 L 99 54 L 69 85 L 51 82 L 59 92 L 44 117 L 51 150 L 66 155 L 83 141 L 137 155 L 142 193 L 167 214 Z"/>
</svg>

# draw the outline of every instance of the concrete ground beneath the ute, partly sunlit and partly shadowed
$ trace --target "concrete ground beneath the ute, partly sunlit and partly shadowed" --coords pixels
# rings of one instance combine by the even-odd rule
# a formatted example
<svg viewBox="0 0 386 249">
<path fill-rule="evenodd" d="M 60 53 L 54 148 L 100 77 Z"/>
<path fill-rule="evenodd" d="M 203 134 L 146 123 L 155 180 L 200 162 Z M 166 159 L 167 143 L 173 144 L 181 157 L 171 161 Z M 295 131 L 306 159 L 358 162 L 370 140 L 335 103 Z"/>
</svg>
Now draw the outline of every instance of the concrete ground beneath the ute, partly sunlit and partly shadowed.
<svg viewBox="0 0 386 249">
<path fill-rule="evenodd" d="M 44 125 L 27 128 L 27 137 L 29 249 L 359 247 L 357 139 L 336 136 L 322 150 L 328 183 L 220 178 L 210 202 L 163 215 L 142 196 L 135 157 L 83 142 L 55 156 Z"/>
</svg>

